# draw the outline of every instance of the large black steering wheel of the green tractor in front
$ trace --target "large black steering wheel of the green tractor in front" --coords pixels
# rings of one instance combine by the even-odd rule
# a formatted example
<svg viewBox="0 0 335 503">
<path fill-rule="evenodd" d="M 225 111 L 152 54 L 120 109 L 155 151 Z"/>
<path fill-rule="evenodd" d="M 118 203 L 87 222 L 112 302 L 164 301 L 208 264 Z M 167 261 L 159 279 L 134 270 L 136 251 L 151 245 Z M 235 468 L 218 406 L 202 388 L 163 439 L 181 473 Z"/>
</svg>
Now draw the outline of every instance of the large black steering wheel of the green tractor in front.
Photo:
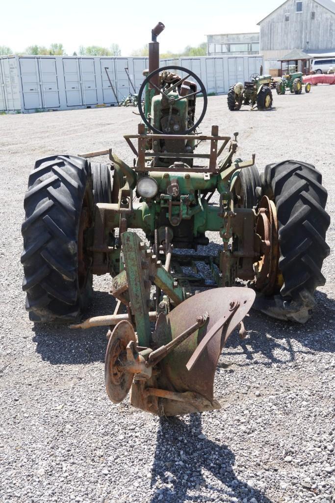
<svg viewBox="0 0 335 503">
<path fill-rule="evenodd" d="M 164 88 L 160 89 L 154 83 L 151 82 L 151 79 L 152 79 L 152 77 L 154 75 L 157 75 L 157 73 L 160 73 L 161 71 L 164 71 L 164 70 L 178 70 L 179 72 L 183 71 L 187 75 L 186 75 L 186 77 L 180 78 L 178 80 L 178 82 L 172 84 L 170 87 L 167 87 L 166 89 L 164 89 Z M 184 80 L 187 80 L 189 77 L 193 77 L 194 78 L 194 80 L 199 84 L 200 90 L 196 91 L 195 93 L 190 93 L 189 95 L 186 95 L 186 96 L 180 96 L 177 99 L 174 98 L 173 96 L 169 97 L 169 94 L 171 93 L 171 91 L 174 91 L 179 86 L 181 86 L 182 83 L 184 82 Z M 189 133 L 191 133 L 192 131 L 194 131 L 199 126 L 199 124 L 203 120 L 203 118 L 205 116 L 205 113 L 206 113 L 206 110 L 207 110 L 207 92 L 206 92 L 206 89 L 205 89 L 205 86 L 204 86 L 203 82 L 200 80 L 200 78 L 193 71 L 188 70 L 187 68 L 184 68 L 183 66 L 162 66 L 161 68 L 157 68 L 156 70 L 154 70 L 151 73 L 149 73 L 149 75 L 142 82 L 142 85 L 141 85 L 140 90 L 138 92 L 138 111 L 140 113 L 140 116 L 141 116 L 144 124 L 146 124 L 146 126 L 149 129 L 151 129 L 154 133 L 157 133 L 157 134 L 166 134 L 166 132 L 160 131 L 156 127 L 152 126 L 152 124 L 150 124 L 150 122 L 147 120 L 147 118 L 144 115 L 144 112 L 143 112 L 143 109 L 142 109 L 142 94 L 143 94 L 143 91 L 144 91 L 145 86 L 147 85 L 147 83 L 149 83 L 152 86 L 152 88 L 154 88 L 156 91 L 159 92 L 159 94 L 161 94 L 163 96 L 164 101 L 166 101 L 166 105 L 170 107 L 170 109 L 169 109 L 169 119 L 167 121 L 167 127 L 169 127 L 169 124 L 170 124 L 170 121 L 171 121 L 171 117 L 172 117 L 172 110 L 174 108 L 175 103 L 177 103 L 180 100 L 183 100 L 184 98 L 190 98 L 191 96 L 196 96 L 197 94 L 202 93 L 202 95 L 204 97 L 204 103 L 203 103 L 203 108 L 202 108 L 202 111 L 201 111 L 199 119 L 189 129 L 186 129 L 185 131 L 178 131 L 178 134 L 189 134 Z M 169 85 L 169 82 L 166 82 L 166 83 L 167 83 L 167 85 Z"/>
</svg>

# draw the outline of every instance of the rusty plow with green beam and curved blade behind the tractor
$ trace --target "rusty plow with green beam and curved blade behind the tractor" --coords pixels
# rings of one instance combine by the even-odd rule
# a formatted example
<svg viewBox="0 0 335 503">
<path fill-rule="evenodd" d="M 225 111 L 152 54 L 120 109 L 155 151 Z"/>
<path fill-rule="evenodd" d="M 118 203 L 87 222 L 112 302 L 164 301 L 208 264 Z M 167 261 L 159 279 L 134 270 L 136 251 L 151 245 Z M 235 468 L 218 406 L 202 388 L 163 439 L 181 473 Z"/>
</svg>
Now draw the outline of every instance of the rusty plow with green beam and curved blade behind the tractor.
<svg viewBox="0 0 335 503">
<path fill-rule="evenodd" d="M 166 416 L 220 408 L 213 396 L 217 362 L 237 325 L 244 337 L 242 319 L 255 292 L 230 287 L 190 295 L 185 280 L 176 280 L 175 271 L 170 272 L 175 267 L 171 246 L 166 246 L 164 266 L 134 232 L 123 233 L 122 249 L 124 269 L 113 278 L 112 293 L 118 299 L 116 311 L 124 305 L 127 313 L 73 325 L 115 325 L 107 334 L 109 398 L 119 403 L 130 391 L 133 406 Z M 156 311 L 152 286 L 164 294 Z"/>
</svg>

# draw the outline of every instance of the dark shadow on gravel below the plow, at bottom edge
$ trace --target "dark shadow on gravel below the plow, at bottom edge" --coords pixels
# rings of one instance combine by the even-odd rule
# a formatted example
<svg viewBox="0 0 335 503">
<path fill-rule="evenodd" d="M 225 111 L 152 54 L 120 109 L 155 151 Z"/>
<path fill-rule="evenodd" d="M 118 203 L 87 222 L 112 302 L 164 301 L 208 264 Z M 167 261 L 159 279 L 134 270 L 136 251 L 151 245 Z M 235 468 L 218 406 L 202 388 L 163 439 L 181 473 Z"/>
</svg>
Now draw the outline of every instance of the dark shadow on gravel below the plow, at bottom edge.
<svg viewBox="0 0 335 503">
<path fill-rule="evenodd" d="M 199 439 L 201 414 L 190 414 L 189 422 L 186 421 L 178 417 L 160 418 L 151 469 L 154 493 L 150 503 L 222 501 L 228 497 L 235 497 L 239 503 L 253 497 L 259 503 L 273 503 L 238 478 L 233 469 L 235 455 L 228 446 L 205 436 Z M 208 478 L 205 470 L 210 473 Z"/>
</svg>

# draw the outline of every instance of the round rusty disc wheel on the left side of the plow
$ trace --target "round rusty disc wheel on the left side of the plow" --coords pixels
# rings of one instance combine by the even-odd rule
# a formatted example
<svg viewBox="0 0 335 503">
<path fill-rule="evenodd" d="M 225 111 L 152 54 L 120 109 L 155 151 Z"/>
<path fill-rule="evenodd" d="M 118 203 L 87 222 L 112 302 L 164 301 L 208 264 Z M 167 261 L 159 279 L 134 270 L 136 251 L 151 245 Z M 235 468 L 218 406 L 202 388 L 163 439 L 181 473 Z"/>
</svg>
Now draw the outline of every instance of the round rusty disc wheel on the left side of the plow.
<svg viewBox="0 0 335 503">
<path fill-rule="evenodd" d="M 120 321 L 113 330 L 108 332 L 109 341 L 105 359 L 105 384 L 107 394 L 114 403 L 120 403 L 131 388 L 134 373 L 122 368 L 122 359 L 127 352 L 127 346 L 132 341 L 136 344 L 135 332 L 129 321 Z"/>
</svg>

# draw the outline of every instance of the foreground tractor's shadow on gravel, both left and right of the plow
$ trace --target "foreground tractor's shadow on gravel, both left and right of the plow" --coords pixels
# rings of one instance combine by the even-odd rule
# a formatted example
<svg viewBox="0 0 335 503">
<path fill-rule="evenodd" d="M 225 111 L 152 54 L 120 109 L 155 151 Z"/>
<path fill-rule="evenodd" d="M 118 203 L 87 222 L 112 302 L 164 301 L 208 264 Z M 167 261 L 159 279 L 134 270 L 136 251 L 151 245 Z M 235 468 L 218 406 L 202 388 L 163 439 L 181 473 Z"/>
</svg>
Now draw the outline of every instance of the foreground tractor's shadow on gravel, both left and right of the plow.
<svg viewBox="0 0 335 503">
<path fill-rule="evenodd" d="M 275 320 L 251 309 L 244 318 L 247 338 L 240 340 L 235 329 L 222 351 L 223 357 L 233 361 L 244 354 L 245 360 L 236 362 L 237 367 L 271 367 L 294 362 L 298 354 L 335 352 L 335 344 L 331 343 L 335 333 L 335 301 L 320 291 L 316 291 L 315 297 L 315 313 L 305 325 Z M 114 311 L 115 303 L 109 293 L 95 291 L 86 317 L 109 314 Z M 107 326 L 83 330 L 70 329 L 68 325 L 35 323 L 33 342 L 42 360 L 51 365 L 103 363 L 107 330 Z M 295 341 L 301 345 L 298 349 Z M 218 366 L 225 365 L 219 362 Z"/>
</svg>

